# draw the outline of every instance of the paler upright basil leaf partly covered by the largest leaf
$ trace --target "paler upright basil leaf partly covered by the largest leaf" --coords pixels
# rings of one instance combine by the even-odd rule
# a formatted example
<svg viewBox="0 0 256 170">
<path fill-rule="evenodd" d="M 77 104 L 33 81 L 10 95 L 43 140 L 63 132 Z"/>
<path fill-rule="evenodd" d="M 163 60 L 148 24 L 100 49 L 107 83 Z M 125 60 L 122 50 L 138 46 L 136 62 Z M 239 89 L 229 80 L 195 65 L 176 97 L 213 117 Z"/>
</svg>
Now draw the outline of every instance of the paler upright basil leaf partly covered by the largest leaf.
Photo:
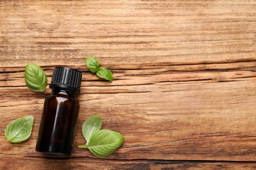
<svg viewBox="0 0 256 170">
<path fill-rule="evenodd" d="M 87 120 L 85 120 L 85 122 L 83 122 L 82 132 L 83 132 L 83 137 L 87 141 L 86 144 L 89 143 L 89 139 L 93 134 L 93 132 L 99 130 L 101 125 L 102 125 L 102 122 L 101 122 L 100 115 L 93 115 L 89 117 Z"/>
</svg>

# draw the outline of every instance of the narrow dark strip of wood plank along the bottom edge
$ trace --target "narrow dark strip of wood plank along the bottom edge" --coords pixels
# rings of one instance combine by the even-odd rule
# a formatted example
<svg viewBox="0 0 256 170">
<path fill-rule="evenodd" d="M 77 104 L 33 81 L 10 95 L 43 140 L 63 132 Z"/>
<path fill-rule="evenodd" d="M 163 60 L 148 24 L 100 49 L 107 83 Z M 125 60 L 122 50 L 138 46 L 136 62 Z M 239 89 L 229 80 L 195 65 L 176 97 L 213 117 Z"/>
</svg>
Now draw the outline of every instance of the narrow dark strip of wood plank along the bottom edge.
<svg viewBox="0 0 256 170">
<path fill-rule="evenodd" d="M 104 160 L 91 158 L 40 158 L 20 156 L 0 156 L 2 169 L 255 169 L 251 162 L 217 161 L 160 161 L 160 160 Z M 16 160 L 16 161 L 13 161 Z"/>
</svg>

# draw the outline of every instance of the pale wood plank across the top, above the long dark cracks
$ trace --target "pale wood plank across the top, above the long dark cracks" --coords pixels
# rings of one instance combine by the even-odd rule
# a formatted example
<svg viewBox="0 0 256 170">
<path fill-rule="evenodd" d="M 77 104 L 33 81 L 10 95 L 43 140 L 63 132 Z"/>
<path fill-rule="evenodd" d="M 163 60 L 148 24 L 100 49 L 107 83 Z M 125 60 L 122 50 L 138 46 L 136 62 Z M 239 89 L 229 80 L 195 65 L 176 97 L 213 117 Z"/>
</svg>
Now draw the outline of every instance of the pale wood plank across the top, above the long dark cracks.
<svg viewBox="0 0 256 170">
<path fill-rule="evenodd" d="M 255 7 L 240 0 L 2 1 L 0 64 L 255 59 Z"/>
</svg>

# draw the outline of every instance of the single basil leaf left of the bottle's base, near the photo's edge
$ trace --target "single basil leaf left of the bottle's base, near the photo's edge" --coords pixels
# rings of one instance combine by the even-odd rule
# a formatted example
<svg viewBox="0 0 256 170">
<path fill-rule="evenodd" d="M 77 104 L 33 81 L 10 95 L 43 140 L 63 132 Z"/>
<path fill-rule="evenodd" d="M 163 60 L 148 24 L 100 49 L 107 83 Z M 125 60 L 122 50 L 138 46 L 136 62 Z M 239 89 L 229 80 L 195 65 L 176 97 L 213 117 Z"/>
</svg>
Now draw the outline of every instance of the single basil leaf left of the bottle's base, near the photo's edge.
<svg viewBox="0 0 256 170">
<path fill-rule="evenodd" d="M 33 128 L 33 116 L 24 116 L 13 120 L 5 129 L 7 141 L 20 143 L 30 137 Z"/>
</svg>

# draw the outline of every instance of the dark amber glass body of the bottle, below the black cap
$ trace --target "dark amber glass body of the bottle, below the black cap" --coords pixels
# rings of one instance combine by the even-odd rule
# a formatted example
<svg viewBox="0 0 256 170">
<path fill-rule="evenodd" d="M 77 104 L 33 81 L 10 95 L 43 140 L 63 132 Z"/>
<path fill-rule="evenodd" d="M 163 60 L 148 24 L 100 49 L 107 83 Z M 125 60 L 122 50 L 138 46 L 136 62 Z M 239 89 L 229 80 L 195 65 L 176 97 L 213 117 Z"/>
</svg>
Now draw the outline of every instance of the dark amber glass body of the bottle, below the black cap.
<svg viewBox="0 0 256 170">
<path fill-rule="evenodd" d="M 45 99 L 37 137 L 37 152 L 70 155 L 75 137 L 79 102 L 75 93 L 53 88 Z"/>
</svg>

